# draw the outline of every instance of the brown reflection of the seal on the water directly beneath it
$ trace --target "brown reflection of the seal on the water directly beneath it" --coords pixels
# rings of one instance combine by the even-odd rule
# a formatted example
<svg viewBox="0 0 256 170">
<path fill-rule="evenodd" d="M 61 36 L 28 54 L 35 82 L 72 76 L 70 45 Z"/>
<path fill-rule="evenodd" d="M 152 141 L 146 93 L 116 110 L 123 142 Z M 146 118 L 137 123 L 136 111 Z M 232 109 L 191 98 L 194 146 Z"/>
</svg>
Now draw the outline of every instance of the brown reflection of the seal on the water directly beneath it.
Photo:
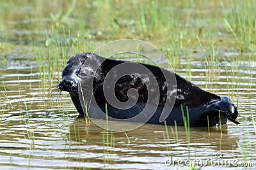
<svg viewBox="0 0 256 170">
<path fill-rule="evenodd" d="M 104 120 L 94 120 L 97 123 L 104 122 Z M 116 126 L 132 126 L 133 122 L 112 122 Z M 177 148 L 184 146 L 185 150 L 188 150 L 188 140 L 186 136 L 186 131 L 184 127 L 177 127 L 177 134 L 175 134 L 175 127 L 168 126 L 168 132 L 164 125 L 155 124 L 145 124 L 138 129 L 126 132 L 113 132 L 115 137 L 115 147 L 119 146 L 130 146 L 131 148 L 143 149 L 147 146 L 152 150 L 166 150 L 166 147 L 171 150 L 178 151 Z M 189 146 L 191 148 L 213 148 L 214 150 L 234 150 L 237 148 L 236 141 L 239 139 L 237 136 L 228 135 L 228 125 L 221 125 L 220 127 L 210 127 L 208 132 L 208 127 L 191 127 L 190 128 L 190 140 Z M 95 134 L 100 134 L 100 132 L 105 132 L 104 129 L 97 127 L 97 125 L 86 124 L 84 119 L 76 119 L 72 125 L 70 125 L 70 139 L 72 141 L 88 141 L 88 144 L 102 145 L 102 136 L 97 136 Z M 222 134 L 221 134 L 222 132 Z M 110 132 L 109 132 L 110 133 Z M 169 138 L 167 138 L 169 136 Z M 129 139 L 128 139 L 129 138 Z M 93 139 L 93 141 L 92 141 Z M 130 143 L 129 143 L 130 142 Z M 211 143 L 211 145 L 209 145 Z M 129 145 L 131 144 L 131 145 Z M 159 146 L 163 146 L 159 148 Z M 145 148 L 144 148 L 145 149 Z M 167 152 L 166 152 L 167 153 Z M 178 154 L 178 153 L 175 153 Z M 205 155 L 205 153 L 204 153 Z"/>
</svg>

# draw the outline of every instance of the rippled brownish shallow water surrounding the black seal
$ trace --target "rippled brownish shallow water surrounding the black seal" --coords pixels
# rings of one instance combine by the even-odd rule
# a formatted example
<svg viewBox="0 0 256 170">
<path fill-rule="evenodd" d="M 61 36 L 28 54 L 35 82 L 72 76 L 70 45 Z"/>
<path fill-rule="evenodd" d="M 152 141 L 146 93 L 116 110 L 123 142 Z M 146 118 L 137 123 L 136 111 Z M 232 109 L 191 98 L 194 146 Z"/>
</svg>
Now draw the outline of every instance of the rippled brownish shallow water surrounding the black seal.
<svg viewBox="0 0 256 170">
<path fill-rule="evenodd" d="M 200 57 L 195 56 L 189 63 L 180 59 L 177 73 L 189 73 L 187 78 L 196 85 L 229 96 L 238 106 L 237 121 L 241 122 L 210 129 L 191 127 L 190 137 L 184 127 L 175 130 L 168 126 L 166 133 L 164 125 L 145 124 L 125 134 L 106 132 L 92 122 L 86 124 L 84 119 L 76 118 L 76 108 L 67 94 L 51 97 L 44 91 L 32 52 L 21 55 L 17 50 L 5 57 L 8 64 L 0 70 L 1 169 L 188 169 L 188 159 L 237 160 L 237 164 L 247 162 L 255 167 L 256 62 L 246 57 L 239 56 L 243 60 L 236 63 L 236 69 L 230 69 L 234 63 L 220 60 L 218 74 L 212 79 L 205 76 L 208 69 Z M 122 127 L 132 124 L 116 122 Z M 183 162 L 167 166 L 170 157 Z M 215 168 L 214 162 L 202 167 Z"/>
</svg>

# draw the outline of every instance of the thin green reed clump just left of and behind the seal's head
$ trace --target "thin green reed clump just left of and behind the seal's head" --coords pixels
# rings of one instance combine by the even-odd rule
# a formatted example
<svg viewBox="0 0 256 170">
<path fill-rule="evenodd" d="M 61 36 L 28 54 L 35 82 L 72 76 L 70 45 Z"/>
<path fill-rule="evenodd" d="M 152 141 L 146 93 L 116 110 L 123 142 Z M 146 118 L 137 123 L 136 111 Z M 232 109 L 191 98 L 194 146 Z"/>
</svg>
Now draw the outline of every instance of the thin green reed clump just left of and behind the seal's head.
<svg viewBox="0 0 256 170">
<path fill-rule="evenodd" d="M 44 48 L 38 48 L 34 45 L 38 72 L 40 73 L 40 90 L 50 94 L 58 94 L 58 82 L 61 81 L 61 72 L 66 66 L 67 61 L 72 55 L 81 52 L 92 51 L 92 43 L 85 42 L 86 35 L 84 26 L 77 31 L 76 36 L 72 36 L 70 29 L 66 30 L 63 26 L 60 30 L 58 27 L 51 27 L 45 34 Z M 51 101 L 49 102 L 51 104 Z"/>
</svg>

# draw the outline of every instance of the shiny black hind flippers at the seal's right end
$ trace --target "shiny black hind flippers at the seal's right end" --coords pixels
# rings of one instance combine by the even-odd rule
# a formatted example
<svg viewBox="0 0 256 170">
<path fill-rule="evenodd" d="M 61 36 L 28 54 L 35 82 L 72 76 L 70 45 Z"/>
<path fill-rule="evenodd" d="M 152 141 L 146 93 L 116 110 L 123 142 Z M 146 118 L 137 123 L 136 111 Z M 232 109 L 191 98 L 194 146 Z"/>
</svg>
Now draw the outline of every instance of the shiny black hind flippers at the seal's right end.
<svg viewBox="0 0 256 170">
<path fill-rule="evenodd" d="M 220 101 L 214 100 L 208 103 L 205 108 L 205 112 L 207 113 L 218 113 L 227 117 L 228 120 L 234 122 L 235 124 L 240 124 L 236 121 L 238 116 L 237 107 L 228 99 L 228 97 L 221 97 Z"/>
</svg>

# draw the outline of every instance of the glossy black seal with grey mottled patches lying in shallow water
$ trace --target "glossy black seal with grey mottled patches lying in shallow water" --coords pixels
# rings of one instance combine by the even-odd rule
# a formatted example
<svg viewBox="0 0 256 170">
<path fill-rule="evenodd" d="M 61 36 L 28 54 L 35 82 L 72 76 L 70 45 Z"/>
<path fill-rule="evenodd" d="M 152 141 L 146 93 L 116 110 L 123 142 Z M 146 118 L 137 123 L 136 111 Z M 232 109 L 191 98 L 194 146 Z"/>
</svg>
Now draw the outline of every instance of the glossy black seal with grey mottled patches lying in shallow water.
<svg viewBox="0 0 256 170">
<path fill-rule="evenodd" d="M 178 74 L 157 66 L 141 64 L 154 76 L 157 86 L 148 86 L 151 82 L 149 73 L 136 72 L 118 78 L 115 85 L 113 85 L 113 92 L 108 85 L 106 86 L 107 89 L 104 89 L 104 80 L 108 78 L 108 73 L 113 73 L 112 78 L 115 78 L 118 73 L 115 67 L 121 64 L 129 65 L 136 64 L 136 62 L 106 59 L 95 53 L 87 52 L 78 53 L 68 60 L 67 66 L 62 72 L 63 80 L 59 83 L 59 89 L 69 92 L 74 106 L 79 112 L 79 117 L 86 117 L 90 113 L 90 118 L 102 118 L 93 113 L 97 112 L 93 110 L 95 108 L 93 105 L 97 105 L 104 113 L 108 109 L 109 117 L 126 120 L 135 117 L 146 108 L 150 98 L 148 96 L 151 92 L 158 91 L 159 95 L 153 97 L 151 102 L 152 105 L 157 105 L 156 111 L 153 115 L 145 115 L 148 116 L 147 123 L 164 124 L 165 121 L 167 125 L 185 125 L 189 123 L 190 126 L 212 126 L 226 124 L 227 120 L 230 120 L 239 124 L 236 121 L 238 116 L 237 107 L 228 97 L 220 97 L 206 92 Z M 169 82 L 166 80 L 166 75 L 173 75 L 171 77 L 176 80 L 177 85 L 172 85 L 172 88 L 168 89 Z M 148 87 L 150 91 L 148 91 Z M 131 89 L 136 90 L 136 92 L 132 93 Z M 79 98 L 79 92 L 81 94 L 81 91 L 82 99 Z M 104 95 L 106 91 L 109 91 L 108 95 L 115 96 L 114 98 L 118 101 L 109 101 Z M 91 106 L 92 96 L 95 103 Z M 129 99 L 132 99 L 132 103 L 134 103 L 131 107 L 127 106 L 127 108 L 120 109 L 118 106 L 113 106 L 115 102 L 127 103 Z M 88 110 L 84 103 L 88 104 Z M 173 103 L 173 106 L 171 106 L 171 103 Z M 161 113 L 166 109 L 165 106 L 167 106 L 167 110 L 169 109 L 168 115 L 164 117 L 164 121 L 159 121 L 161 120 Z M 140 122 L 140 119 L 136 119 L 134 122 Z"/>
</svg>

